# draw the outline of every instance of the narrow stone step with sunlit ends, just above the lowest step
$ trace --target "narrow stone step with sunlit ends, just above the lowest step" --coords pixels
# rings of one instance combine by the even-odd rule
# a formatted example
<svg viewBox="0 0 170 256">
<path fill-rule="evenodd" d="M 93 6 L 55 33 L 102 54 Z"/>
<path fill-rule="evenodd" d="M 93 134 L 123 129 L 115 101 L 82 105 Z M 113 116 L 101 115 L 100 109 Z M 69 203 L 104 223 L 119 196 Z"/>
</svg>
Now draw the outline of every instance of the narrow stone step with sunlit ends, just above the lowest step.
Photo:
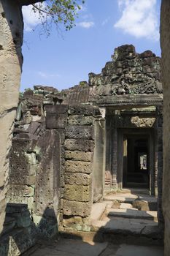
<svg viewBox="0 0 170 256">
<path fill-rule="evenodd" d="M 136 209 L 112 209 L 107 211 L 108 217 L 123 217 L 128 219 L 151 219 L 158 221 L 157 211 L 136 211 Z"/>
</svg>

